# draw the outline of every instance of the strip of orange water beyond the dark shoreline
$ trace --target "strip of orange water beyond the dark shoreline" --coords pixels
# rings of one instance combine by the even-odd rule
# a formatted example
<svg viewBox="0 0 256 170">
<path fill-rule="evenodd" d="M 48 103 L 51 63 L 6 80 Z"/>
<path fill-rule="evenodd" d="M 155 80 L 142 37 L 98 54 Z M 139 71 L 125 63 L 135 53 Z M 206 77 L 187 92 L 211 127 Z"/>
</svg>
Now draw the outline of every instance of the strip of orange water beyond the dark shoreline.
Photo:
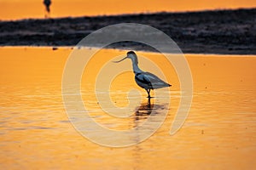
<svg viewBox="0 0 256 170">
<path fill-rule="evenodd" d="M 51 17 L 255 8 L 254 0 L 51 0 Z M 0 0 L 0 20 L 44 18 L 43 0 Z"/>
</svg>

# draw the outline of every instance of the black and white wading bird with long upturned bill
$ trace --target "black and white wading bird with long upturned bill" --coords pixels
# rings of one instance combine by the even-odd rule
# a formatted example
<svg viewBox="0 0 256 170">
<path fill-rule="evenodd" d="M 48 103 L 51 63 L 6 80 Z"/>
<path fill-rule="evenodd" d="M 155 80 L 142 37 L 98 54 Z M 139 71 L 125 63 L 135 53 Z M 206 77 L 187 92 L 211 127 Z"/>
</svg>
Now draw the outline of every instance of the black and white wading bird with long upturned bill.
<svg viewBox="0 0 256 170">
<path fill-rule="evenodd" d="M 156 88 L 166 88 L 172 86 L 164 81 L 162 81 L 159 77 L 156 77 L 154 74 L 150 72 L 142 71 L 138 67 L 137 54 L 133 51 L 129 51 L 124 59 L 131 59 L 132 68 L 135 75 L 135 81 L 137 85 L 141 88 L 144 88 L 148 93 L 148 99 L 151 98 L 150 90 Z M 120 59 L 119 61 L 113 61 L 114 63 L 119 63 L 124 59 Z"/>
</svg>

